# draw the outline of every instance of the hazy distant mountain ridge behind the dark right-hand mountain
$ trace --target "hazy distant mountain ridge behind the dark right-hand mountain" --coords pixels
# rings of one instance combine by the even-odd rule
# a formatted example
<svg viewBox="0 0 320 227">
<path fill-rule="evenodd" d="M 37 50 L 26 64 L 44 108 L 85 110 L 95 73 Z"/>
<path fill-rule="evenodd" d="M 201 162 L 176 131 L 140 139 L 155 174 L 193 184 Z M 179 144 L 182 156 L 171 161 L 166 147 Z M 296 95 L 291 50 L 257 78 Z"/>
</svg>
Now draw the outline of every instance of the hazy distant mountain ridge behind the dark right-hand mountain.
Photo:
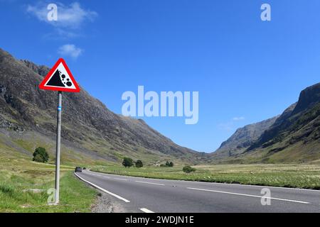
<svg viewBox="0 0 320 227">
<path fill-rule="evenodd" d="M 258 123 L 252 123 L 242 128 L 238 128 L 233 135 L 231 135 L 228 140 L 220 145 L 218 150 L 215 150 L 213 157 L 223 158 L 232 157 L 238 155 L 250 147 L 255 141 L 260 138 L 260 135 L 267 128 L 270 128 L 274 121 L 276 121 L 278 116 L 261 121 Z"/>
</svg>

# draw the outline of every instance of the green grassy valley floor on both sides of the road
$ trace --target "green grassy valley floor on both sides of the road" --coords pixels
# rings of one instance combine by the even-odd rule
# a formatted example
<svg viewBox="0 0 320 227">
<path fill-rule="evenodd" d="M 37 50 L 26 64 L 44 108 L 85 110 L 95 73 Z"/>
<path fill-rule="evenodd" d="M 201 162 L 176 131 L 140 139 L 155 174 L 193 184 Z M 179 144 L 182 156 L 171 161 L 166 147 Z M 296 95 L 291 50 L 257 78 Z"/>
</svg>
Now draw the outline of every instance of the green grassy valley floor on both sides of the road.
<svg viewBox="0 0 320 227">
<path fill-rule="evenodd" d="M 186 174 L 182 166 L 124 168 L 92 165 L 91 170 L 116 175 L 201 182 L 255 184 L 277 187 L 320 189 L 319 165 L 196 165 Z M 48 189 L 54 187 L 54 165 L 21 157 L 0 155 L 0 212 L 123 212 L 105 195 L 73 175 L 71 165 L 61 167 L 60 204 L 48 206 Z M 36 190 L 34 190 L 36 189 Z M 99 204 L 100 203 L 100 204 Z M 101 204 L 102 203 L 102 204 Z"/>
</svg>

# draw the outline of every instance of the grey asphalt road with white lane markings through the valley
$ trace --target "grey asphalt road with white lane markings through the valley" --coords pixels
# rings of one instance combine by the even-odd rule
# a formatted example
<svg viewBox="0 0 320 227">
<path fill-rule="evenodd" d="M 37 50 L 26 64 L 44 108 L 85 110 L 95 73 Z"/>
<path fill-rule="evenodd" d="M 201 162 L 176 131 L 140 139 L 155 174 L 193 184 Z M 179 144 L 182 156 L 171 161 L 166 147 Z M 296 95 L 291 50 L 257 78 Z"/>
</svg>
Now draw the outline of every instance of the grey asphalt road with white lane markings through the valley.
<svg viewBox="0 0 320 227">
<path fill-rule="evenodd" d="M 117 198 L 128 212 L 320 212 L 320 191 L 316 190 L 147 179 L 88 170 L 76 175 Z M 268 189 L 270 194 L 265 194 Z"/>
</svg>

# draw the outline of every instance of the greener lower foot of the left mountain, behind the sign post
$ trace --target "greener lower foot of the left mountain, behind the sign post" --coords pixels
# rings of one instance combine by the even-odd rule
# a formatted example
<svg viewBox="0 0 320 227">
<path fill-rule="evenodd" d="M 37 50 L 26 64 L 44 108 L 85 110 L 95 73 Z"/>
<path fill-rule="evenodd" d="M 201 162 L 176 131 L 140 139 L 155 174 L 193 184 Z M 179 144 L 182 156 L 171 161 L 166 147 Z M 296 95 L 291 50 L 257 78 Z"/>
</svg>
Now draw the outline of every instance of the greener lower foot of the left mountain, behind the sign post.
<svg viewBox="0 0 320 227">
<path fill-rule="evenodd" d="M 66 165 L 102 165 L 110 162 L 122 162 L 124 156 L 137 159 L 148 160 L 166 160 L 170 159 L 169 155 L 159 153 L 148 153 L 139 150 L 139 153 L 117 153 L 116 150 L 100 150 L 97 146 L 101 146 L 98 140 L 92 140 L 90 143 L 83 142 L 82 145 L 70 143 L 63 140 L 61 144 L 61 162 Z M 46 148 L 50 155 L 50 162 L 55 162 L 55 136 L 46 136 L 36 131 L 24 131 L 18 133 L 16 131 L 5 131 L 0 128 L 0 148 L 9 150 L 12 155 L 26 155 L 29 159 L 32 157 L 34 150 L 38 147 Z M 87 149 L 83 148 L 87 147 Z M 137 148 L 139 149 L 139 148 Z M 0 151 L 1 153 L 1 151 Z M 108 157 L 108 159 L 106 159 Z M 110 160 L 109 160 L 110 159 Z"/>
</svg>

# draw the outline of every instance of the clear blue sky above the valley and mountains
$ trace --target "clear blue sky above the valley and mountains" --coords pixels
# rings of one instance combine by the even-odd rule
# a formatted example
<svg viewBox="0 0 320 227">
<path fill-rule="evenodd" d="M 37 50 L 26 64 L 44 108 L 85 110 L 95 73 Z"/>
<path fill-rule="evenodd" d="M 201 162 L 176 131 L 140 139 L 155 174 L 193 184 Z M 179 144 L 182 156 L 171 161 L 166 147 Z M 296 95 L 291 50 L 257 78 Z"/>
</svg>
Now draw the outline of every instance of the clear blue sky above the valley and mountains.
<svg viewBox="0 0 320 227">
<path fill-rule="evenodd" d="M 122 93 L 138 85 L 198 91 L 196 125 L 144 118 L 194 150 L 215 150 L 319 82 L 319 0 L 43 2 L 0 0 L 0 48 L 39 65 L 64 57 L 82 87 L 118 114 Z M 57 23 L 46 21 L 49 3 L 58 4 Z M 263 3 L 272 21 L 260 20 Z"/>
</svg>

